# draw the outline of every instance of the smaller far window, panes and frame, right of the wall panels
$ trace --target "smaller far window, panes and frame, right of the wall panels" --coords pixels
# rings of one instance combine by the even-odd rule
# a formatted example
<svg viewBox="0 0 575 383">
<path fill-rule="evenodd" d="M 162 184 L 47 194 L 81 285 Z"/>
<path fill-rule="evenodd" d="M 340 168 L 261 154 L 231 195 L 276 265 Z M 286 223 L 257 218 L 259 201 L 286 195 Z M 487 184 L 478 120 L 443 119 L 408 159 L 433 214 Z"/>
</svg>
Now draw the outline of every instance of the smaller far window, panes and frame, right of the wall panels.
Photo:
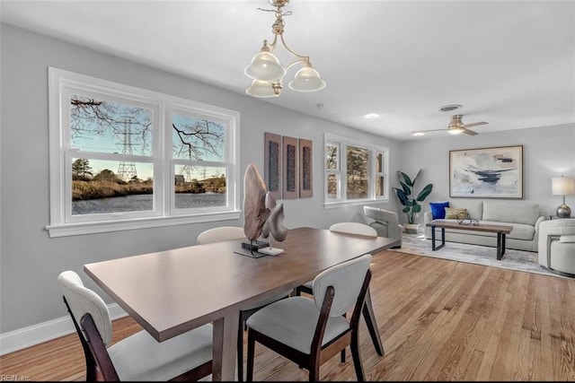
<svg viewBox="0 0 575 383">
<path fill-rule="evenodd" d="M 385 147 L 325 135 L 325 205 L 363 204 L 389 197 Z"/>
</svg>

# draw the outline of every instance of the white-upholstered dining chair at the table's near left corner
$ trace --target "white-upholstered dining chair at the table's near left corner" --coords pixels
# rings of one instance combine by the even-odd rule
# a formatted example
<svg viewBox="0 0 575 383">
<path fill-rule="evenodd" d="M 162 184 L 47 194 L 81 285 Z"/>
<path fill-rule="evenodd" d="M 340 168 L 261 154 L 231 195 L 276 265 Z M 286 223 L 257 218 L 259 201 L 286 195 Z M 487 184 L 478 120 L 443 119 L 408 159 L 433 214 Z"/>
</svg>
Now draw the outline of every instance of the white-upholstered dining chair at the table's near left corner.
<svg viewBox="0 0 575 383">
<path fill-rule="evenodd" d="M 212 373 L 212 325 L 164 342 L 141 330 L 111 344 L 110 311 L 74 271 L 59 274 L 64 303 L 84 348 L 86 381 L 199 380 Z"/>
</svg>

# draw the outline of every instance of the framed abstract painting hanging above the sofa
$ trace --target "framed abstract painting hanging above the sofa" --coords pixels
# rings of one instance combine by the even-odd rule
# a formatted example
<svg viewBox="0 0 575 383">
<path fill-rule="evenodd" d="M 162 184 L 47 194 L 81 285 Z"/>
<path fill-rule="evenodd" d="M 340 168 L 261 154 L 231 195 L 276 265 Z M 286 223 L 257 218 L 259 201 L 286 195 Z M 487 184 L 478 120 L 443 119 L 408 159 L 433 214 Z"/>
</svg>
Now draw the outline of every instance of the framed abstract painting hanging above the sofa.
<svg viewBox="0 0 575 383">
<path fill-rule="evenodd" d="M 449 151 L 449 196 L 523 198 L 523 145 Z"/>
</svg>

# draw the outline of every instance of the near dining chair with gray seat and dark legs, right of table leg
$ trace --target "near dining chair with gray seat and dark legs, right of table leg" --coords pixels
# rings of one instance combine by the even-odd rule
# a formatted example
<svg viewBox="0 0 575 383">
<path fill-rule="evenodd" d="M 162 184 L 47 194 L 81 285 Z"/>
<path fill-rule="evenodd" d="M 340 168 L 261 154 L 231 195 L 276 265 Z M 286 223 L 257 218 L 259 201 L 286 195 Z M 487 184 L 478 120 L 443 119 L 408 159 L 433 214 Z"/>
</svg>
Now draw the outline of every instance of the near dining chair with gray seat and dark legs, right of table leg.
<svg viewBox="0 0 575 383">
<path fill-rule="evenodd" d="M 313 299 L 294 296 L 279 300 L 248 318 L 246 380 L 253 379 L 258 342 L 309 370 L 310 381 L 319 380 L 320 366 L 349 346 L 358 381 L 363 381 L 358 324 L 371 280 L 371 259 L 367 254 L 318 274 Z M 350 309 L 348 320 L 344 314 Z"/>
</svg>

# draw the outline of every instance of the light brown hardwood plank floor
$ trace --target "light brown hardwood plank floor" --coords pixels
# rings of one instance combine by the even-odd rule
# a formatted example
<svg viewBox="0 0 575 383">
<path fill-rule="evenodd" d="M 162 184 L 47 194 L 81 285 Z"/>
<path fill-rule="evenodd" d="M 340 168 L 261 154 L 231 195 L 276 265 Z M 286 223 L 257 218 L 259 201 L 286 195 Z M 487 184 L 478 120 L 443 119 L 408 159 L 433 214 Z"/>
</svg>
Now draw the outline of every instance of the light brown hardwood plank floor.
<svg viewBox="0 0 575 383">
<path fill-rule="evenodd" d="M 367 380 L 575 380 L 575 280 L 384 251 L 371 296 L 385 347 L 360 328 Z M 66 313 L 62 307 L 62 315 Z M 138 331 L 114 322 L 114 339 Z M 77 335 L 0 357 L 0 380 L 82 380 Z M 256 380 L 306 380 L 307 371 L 256 348 Z M 323 380 L 356 380 L 351 357 Z"/>
</svg>

